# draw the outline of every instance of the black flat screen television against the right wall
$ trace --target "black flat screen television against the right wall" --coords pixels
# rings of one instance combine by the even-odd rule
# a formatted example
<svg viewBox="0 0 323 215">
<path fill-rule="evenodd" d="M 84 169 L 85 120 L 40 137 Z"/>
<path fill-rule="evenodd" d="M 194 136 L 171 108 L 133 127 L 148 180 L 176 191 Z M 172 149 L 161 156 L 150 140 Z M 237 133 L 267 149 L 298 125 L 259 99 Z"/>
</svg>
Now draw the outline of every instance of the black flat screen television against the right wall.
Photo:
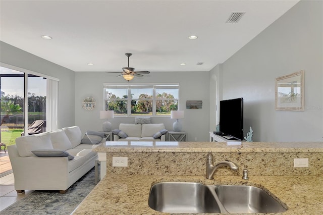
<svg viewBox="0 0 323 215">
<path fill-rule="evenodd" d="M 220 101 L 220 135 L 243 140 L 243 98 Z"/>
</svg>

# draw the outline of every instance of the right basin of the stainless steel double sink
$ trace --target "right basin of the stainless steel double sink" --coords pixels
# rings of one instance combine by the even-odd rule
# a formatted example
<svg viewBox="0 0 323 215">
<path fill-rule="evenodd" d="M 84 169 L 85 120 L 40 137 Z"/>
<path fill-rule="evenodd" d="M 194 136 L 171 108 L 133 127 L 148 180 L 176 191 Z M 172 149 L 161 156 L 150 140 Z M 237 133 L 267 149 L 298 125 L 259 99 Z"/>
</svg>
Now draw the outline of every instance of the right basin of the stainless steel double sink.
<svg viewBox="0 0 323 215">
<path fill-rule="evenodd" d="M 247 185 L 214 185 L 229 213 L 274 213 L 286 209 L 260 188 Z"/>
</svg>

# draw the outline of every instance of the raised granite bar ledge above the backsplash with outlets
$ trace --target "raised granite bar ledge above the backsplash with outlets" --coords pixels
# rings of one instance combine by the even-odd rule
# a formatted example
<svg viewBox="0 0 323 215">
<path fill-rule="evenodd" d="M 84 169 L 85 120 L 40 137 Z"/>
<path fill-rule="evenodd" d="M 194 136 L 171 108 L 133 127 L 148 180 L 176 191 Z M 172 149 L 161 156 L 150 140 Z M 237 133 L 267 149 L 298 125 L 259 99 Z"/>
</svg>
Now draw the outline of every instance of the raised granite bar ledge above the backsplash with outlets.
<svg viewBox="0 0 323 215">
<path fill-rule="evenodd" d="M 240 144 L 239 144 L 240 143 Z M 237 145 L 239 144 L 239 145 Z M 323 152 L 323 142 L 105 142 L 96 152 Z"/>
</svg>

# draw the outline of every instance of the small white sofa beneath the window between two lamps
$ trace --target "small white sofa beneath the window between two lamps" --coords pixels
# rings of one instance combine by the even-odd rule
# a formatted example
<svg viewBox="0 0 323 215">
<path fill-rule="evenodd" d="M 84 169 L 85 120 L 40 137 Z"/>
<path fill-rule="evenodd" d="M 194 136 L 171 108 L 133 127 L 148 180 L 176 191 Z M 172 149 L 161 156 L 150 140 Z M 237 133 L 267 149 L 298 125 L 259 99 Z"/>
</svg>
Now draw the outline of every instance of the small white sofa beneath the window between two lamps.
<svg viewBox="0 0 323 215">
<path fill-rule="evenodd" d="M 154 139 L 153 135 L 165 129 L 163 123 L 160 124 L 126 124 L 120 123 L 119 130 L 125 132 L 128 137 L 121 138 L 114 134 L 114 141 L 165 141 L 165 134 Z"/>
</svg>

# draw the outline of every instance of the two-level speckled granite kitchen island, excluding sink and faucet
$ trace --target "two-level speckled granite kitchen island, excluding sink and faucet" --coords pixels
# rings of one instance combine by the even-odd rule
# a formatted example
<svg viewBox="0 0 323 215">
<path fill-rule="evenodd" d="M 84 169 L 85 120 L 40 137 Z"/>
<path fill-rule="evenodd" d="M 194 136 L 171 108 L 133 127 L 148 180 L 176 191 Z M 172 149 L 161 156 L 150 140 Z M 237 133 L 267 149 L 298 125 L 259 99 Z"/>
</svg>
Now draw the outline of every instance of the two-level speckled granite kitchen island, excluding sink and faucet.
<svg viewBox="0 0 323 215">
<path fill-rule="evenodd" d="M 155 144 L 118 146 L 110 142 L 95 148 L 95 151 L 106 153 L 107 175 L 74 214 L 159 214 L 148 206 L 149 190 L 155 183 L 170 181 L 252 185 L 278 198 L 287 208 L 281 214 L 321 214 L 323 211 L 321 142 Z M 215 155 L 214 162 L 229 157 L 239 165 L 239 171 L 223 167 L 216 171 L 213 180 L 206 179 L 208 151 Z M 112 156 L 128 156 L 128 168 L 112 167 Z M 294 168 L 291 164 L 294 158 L 305 157 L 309 158 L 308 168 Z M 242 179 L 244 168 L 249 170 L 249 180 Z"/>
</svg>

